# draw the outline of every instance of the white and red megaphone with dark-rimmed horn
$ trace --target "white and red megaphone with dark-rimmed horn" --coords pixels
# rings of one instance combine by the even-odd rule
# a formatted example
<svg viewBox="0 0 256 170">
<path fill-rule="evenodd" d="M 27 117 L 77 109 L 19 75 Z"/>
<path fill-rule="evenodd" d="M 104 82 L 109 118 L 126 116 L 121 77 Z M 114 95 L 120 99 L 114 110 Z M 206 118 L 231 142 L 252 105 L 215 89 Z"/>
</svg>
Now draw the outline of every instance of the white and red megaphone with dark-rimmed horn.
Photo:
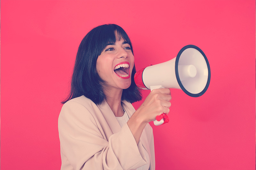
<svg viewBox="0 0 256 170">
<path fill-rule="evenodd" d="M 209 62 L 195 45 L 187 45 L 181 48 L 177 57 L 150 65 L 134 75 L 135 84 L 141 89 L 175 88 L 191 97 L 203 95 L 209 87 L 210 78 Z M 154 121 L 156 126 L 169 122 L 167 115 L 162 114 L 161 118 Z"/>
</svg>

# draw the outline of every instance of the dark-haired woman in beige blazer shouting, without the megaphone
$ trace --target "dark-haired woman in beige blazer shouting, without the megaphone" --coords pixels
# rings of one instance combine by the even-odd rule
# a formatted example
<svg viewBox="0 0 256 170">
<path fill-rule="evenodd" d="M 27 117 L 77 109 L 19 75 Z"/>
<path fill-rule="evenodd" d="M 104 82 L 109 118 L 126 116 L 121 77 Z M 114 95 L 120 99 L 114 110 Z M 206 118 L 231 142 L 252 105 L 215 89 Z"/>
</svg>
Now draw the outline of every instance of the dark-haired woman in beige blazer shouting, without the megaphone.
<svg viewBox="0 0 256 170">
<path fill-rule="evenodd" d="M 84 37 L 59 116 L 61 169 L 155 169 L 148 122 L 169 113 L 170 90 L 153 90 L 135 111 L 135 72 L 132 43 L 120 26 L 98 26 Z"/>
</svg>

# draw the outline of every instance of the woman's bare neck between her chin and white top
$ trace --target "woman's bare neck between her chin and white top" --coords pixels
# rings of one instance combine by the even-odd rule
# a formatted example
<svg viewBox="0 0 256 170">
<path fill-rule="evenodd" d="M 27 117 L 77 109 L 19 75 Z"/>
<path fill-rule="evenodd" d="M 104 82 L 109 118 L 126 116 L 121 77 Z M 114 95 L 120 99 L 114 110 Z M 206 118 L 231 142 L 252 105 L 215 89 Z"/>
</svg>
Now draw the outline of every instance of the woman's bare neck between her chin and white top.
<svg viewBox="0 0 256 170">
<path fill-rule="evenodd" d="M 113 89 L 113 90 L 105 90 L 104 94 L 107 97 L 108 106 L 111 108 L 112 112 L 116 117 L 121 117 L 124 115 L 124 109 L 121 105 L 123 89 Z"/>
</svg>

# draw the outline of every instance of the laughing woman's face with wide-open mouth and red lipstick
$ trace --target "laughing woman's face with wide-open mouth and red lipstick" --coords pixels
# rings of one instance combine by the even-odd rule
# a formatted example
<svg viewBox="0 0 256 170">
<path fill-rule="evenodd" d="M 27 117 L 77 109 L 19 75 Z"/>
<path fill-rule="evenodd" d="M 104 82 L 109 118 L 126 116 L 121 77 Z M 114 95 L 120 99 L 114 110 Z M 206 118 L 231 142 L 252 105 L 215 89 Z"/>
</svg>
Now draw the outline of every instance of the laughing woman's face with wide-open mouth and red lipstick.
<svg viewBox="0 0 256 170">
<path fill-rule="evenodd" d="M 133 65 L 131 47 L 121 38 L 120 41 L 109 43 L 102 51 L 96 62 L 96 70 L 107 89 L 127 89 L 131 85 Z"/>
</svg>

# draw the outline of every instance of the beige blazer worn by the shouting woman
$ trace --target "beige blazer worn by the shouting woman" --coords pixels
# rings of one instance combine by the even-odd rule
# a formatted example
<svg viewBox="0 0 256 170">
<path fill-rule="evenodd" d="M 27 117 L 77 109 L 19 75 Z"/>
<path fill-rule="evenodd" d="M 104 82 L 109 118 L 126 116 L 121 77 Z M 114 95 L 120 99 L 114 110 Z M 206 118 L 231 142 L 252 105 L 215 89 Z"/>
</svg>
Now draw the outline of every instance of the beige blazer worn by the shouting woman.
<svg viewBox="0 0 256 170">
<path fill-rule="evenodd" d="M 129 117 L 132 104 L 123 101 Z M 58 121 L 62 170 L 136 169 L 147 164 L 143 148 L 155 169 L 153 131 L 149 124 L 138 145 L 127 124 L 122 128 L 107 102 L 96 105 L 85 96 L 66 102 Z"/>
</svg>

